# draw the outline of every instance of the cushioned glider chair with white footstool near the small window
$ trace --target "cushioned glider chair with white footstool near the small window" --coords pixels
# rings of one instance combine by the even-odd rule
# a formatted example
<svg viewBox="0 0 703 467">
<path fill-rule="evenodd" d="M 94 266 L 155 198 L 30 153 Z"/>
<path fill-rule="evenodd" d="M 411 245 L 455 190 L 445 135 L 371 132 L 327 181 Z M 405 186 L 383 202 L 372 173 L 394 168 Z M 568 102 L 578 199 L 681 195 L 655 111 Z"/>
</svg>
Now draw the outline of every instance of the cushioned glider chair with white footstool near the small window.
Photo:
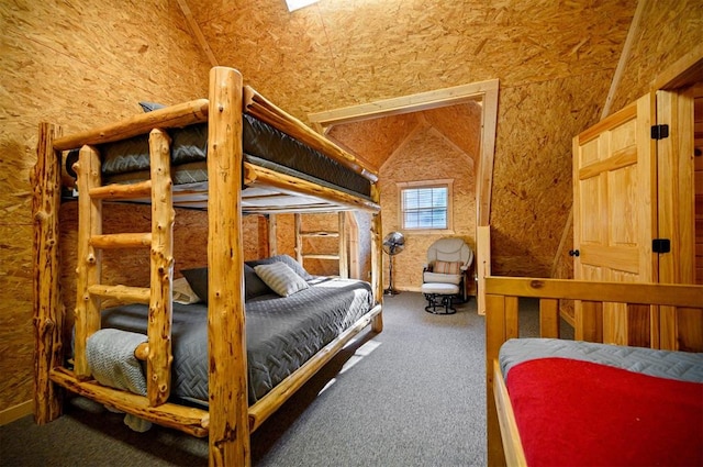
<svg viewBox="0 0 703 467">
<path fill-rule="evenodd" d="M 472 265 L 473 251 L 462 238 L 446 237 L 433 243 L 427 249 L 427 263 L 422 274 L 422 289 L 429 302 L 426 310 L 436 312 L 438 298 L 446 313 L 453 310 L 451 296 L 466 302 Z"/>
</svg>

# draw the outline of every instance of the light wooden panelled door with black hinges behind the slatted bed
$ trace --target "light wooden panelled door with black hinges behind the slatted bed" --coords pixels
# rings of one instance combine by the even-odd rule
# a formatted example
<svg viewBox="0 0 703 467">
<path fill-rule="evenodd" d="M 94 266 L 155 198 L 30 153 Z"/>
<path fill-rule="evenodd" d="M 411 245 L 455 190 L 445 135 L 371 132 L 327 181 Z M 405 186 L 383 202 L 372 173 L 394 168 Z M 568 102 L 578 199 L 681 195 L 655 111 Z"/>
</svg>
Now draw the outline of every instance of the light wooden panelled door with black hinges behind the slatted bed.
<svg viewBox="0 0 703 467">
<path fill-rule="evenodd" d="M 650 93 L 573 138 L 574 278 L 656 282 L 656 145 Z M 576 303 L 576 338 L 648 345 L 658 335 L 649 310 Z M 602 327 L 601 327 L 602 323 Z M 602 329 L 602 334 L 601 334 Z"/>
</svg>

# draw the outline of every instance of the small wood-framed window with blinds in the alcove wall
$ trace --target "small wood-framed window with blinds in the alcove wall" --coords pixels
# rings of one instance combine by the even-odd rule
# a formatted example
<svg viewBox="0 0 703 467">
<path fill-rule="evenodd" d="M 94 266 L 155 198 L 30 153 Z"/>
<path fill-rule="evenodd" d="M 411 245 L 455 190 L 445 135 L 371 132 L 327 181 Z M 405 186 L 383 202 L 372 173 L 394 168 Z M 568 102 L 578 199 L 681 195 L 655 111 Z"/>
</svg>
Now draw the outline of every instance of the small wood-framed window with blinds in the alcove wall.
<svg viewBox="0 0 703 467">
<path fill-rule="evenodd" d="M 402 227 L 451 230 L 451 181 L 399 184 Z"/>
</svg>

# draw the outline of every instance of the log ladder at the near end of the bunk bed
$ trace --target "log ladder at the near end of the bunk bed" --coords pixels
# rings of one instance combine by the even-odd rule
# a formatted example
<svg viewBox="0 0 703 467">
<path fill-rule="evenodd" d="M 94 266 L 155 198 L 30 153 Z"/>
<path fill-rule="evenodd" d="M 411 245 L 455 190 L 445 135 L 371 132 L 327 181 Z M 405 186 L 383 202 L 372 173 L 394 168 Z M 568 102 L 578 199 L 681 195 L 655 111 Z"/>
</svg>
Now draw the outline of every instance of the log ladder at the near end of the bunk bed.
<svg viewBox="0 0 703 467">
<path fill-rule="evenodd" d="M 134 185 L 102 186 L 100 154 L 83 146 L 78 157 L 78 265 L 74 371 L 89 379 L 86 357 L 88 337 L 100 330 L 102 299 L 121 303 L 148 303 L 146 345 L 135 355 L 147 363 L 147 397 L 150 407 L 170 394 L 171 320 L 174 278 L 174 204 L 170 176 L 170 137 L 159 129 L 149 133 L 150 180 Z M 150 199 L 152 231 L 102 234 L 102 201 Z M 102 249 L 150 247 L 149 287 L 103 285 Z"/>
</svg>

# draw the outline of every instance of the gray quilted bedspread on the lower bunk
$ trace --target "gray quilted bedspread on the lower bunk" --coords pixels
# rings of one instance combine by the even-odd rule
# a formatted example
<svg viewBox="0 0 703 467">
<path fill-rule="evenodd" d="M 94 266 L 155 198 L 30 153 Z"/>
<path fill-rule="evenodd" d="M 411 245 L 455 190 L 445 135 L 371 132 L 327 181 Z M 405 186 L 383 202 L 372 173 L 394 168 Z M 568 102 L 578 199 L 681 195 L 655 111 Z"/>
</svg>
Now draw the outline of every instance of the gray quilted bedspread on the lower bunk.
<svg viewBox="0 0 703 467">
<path fill-rule="evenodd" d="M 317 351 L 366 314 L 373 304 L 367 282 L 322 280 L 292 296 L 246 302 L 249 403 L 256 402 Z M 148 308 L 103 311 L 102 326 L 146 333 Z M 208 403 L 207 304 L 174 303 L 171 396 Z"/>
</svg>

